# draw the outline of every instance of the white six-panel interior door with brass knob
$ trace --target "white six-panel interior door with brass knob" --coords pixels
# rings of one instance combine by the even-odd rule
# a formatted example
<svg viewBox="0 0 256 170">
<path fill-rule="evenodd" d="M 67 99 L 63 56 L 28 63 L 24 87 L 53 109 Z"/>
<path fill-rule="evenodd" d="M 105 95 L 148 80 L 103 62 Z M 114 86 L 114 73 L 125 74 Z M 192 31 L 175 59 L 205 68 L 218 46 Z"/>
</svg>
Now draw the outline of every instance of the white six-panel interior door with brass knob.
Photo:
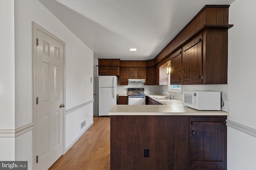
<svg viewBox="0 0 256 170">
<path fill-rule="evenodd" d="M 64 42 L 36 29 L 36 161 L 47 170 L 63 154 Z"/>
</svg>

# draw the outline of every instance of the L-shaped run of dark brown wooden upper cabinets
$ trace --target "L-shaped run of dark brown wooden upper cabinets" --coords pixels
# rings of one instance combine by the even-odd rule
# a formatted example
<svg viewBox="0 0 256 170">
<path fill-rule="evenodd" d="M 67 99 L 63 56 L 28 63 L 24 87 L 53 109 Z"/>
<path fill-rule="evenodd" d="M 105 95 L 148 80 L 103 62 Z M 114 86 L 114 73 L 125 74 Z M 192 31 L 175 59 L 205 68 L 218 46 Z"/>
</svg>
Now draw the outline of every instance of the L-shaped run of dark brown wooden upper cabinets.
<svg viewBox="0 0 256 170">
<path fill-rule="evenodd" d="M 99 75 L 119 76 L 120 67 L 124 68 L 120 85 L 127 85 L 128 78 L 146 78 L 146 85 L 152 81 L 160 85 L 164 73 L 159 68 L 171 60 L 171 84 L 227 84 L 228 29 L 233 26 L 228 24 L 228 8 L 204 6 L 155 59 L 99 59 Z"/>
</svg>

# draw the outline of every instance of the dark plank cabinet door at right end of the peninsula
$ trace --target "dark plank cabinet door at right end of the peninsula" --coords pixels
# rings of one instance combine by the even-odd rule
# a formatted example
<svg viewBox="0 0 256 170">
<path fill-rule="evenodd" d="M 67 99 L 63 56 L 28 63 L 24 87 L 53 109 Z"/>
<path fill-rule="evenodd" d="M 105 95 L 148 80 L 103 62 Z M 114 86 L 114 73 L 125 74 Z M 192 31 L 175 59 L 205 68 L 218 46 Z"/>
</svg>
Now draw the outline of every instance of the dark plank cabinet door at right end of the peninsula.
<svg viewBox="0 0 256 170">
<path fill-rule="evenodd" d="M 226 170 L 226 117 L 190 117 L 191 170 Z"/>
</svg>

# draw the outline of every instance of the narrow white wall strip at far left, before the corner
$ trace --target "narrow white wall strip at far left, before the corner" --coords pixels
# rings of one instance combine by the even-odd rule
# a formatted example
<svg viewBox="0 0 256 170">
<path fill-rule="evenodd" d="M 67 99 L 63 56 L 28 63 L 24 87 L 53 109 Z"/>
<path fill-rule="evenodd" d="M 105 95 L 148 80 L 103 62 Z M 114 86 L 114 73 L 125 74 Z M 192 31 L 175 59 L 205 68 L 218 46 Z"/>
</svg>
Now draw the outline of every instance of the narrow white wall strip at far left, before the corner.
<svg viewBox="0 0 256 170">
<path fill-rule="evenodd" d="M 15 128 L 14 67 L 14 0 L 0 0 L 0 160 L 14 159 L 14 133 L 1 133 Z"/>
</svg>

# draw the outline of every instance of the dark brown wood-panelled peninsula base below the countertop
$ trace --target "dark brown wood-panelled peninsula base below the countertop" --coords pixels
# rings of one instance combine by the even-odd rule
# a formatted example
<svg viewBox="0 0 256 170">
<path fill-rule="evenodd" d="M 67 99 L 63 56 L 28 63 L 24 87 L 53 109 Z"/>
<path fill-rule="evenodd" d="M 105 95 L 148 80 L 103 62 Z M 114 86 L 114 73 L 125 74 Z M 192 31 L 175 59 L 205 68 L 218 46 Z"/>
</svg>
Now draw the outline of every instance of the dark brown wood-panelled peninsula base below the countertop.
<svg viewBox="0 0 256 170">
<path fill-rule="evenodd" d="M 226 116 L 110 116 L 111 170 L 226 170 L 225 120 Z"/>
</svg>

